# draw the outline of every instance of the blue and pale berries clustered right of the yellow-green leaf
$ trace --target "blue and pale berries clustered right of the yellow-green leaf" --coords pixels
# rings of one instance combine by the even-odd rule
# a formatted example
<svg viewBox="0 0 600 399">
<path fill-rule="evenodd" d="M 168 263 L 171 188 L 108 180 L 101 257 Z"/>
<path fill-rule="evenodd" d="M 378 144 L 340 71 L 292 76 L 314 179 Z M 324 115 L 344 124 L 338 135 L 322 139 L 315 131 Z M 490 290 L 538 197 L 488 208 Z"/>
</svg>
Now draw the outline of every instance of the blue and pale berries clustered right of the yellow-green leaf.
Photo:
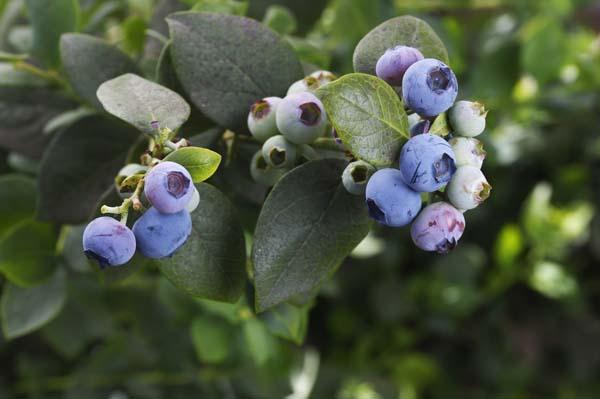
<svg viewBox="0 0 600 399">
<path fill-rule="evenodd" d="M 458 83 L 452 70 L 415 48 L 388 49 L 377 62 L 376 74 L 391 86 L 401 86 L 404 105 L 414 112 L 409 116 L 411 138 L 401 149 L 399 169 L 374 171 L 362 161 L 351 163 L 344 185 L 350 192 L 364 190 L 369 214 L 377 222 L 393 227 L 412 222 L 417 247 L 446 253 L 464 232 L 463 213 L 487 199 L 491 190 L 481 172 L 486 153 L 474 138 L 484 131 L 487 113 L 479 103 L 455 102 Z M 451 128 L 448 141 L 428 133 L 444 112 Z M 358 181 L 353 175 L 357 169 L 363 171 Z M 423 197 L 431 200 L 431 193 L 444 201 L 421 210 Z"/>
</svg>

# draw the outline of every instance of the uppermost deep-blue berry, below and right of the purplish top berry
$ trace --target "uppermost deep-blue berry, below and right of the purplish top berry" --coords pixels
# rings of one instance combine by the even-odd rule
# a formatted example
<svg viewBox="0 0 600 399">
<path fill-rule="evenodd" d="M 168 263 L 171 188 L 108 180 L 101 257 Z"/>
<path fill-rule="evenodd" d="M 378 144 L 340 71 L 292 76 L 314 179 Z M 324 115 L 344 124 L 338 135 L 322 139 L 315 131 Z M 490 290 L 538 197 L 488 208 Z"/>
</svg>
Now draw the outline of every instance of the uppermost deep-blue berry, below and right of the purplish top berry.
<svg viewBox="0 0 600 399">
<path fill-rule="evenodd" d="M 424 118 L 441 114 L 454 104 L 458 82 L 454 72 L 433 58 L 414 63 L 402 80 L 404 104 Z"/>
</svg>

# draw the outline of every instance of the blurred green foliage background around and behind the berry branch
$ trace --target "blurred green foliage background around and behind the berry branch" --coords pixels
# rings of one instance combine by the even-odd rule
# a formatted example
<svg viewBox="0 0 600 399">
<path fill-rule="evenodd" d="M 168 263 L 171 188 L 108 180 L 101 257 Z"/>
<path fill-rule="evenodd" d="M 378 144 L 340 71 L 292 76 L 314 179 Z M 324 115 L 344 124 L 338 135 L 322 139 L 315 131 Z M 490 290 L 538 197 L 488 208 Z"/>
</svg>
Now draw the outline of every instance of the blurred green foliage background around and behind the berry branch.
<svg viewBox="0 0 600 399">
<path fill-rule="evenodd" d="M 3 51 L 32 46 L 23 5 L 0 0 Z M 312 306 L 259 315 L 250 288 L 227 305 L 187 297 L 153 269 L 98 283 L 71 234 L 80 227 L 63 228 L 68 279 L 4 290 L 4 316 L 24 312 L 6 300 L 21 295 L 52 320 L 0 337 L 0 398 L 600 397 L 599 1 L 81 0 L 77 24 L 151 73 L 164 15 L 192 7 L 263 20 L 307 65 L 338 74 L 378 23 L 427 20 L 459 97 L 491 110 L 481 137 L 493 195 L 450 255 L 376 228 Z M 0 82 L 14 79 L 0 69 Z M 2 172 L 35 176 L 39 154 L 8 148 Z M 233 185 L 250 240 L 260 202 L 248 197 L 264 192 Z M 57 287 L 66 295 L 47 297 Z"/>
</svg>

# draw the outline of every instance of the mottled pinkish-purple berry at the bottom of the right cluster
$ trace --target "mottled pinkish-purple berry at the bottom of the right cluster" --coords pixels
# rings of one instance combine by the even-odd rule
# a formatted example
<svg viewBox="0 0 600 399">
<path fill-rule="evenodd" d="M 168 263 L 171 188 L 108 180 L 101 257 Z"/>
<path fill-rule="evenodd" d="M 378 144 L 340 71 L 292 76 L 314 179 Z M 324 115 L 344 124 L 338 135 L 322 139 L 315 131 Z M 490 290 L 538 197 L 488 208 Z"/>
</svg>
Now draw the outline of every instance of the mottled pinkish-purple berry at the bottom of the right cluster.
<svg viewBox="0 0 600 399">
<path fill-rule="evenodd" d="M 445 254 L 454 249 L 464 231 L 464 215 L 446 202 L 436 202 L 421 211 L 410 235 L 417 247 Z"/>
</svg>

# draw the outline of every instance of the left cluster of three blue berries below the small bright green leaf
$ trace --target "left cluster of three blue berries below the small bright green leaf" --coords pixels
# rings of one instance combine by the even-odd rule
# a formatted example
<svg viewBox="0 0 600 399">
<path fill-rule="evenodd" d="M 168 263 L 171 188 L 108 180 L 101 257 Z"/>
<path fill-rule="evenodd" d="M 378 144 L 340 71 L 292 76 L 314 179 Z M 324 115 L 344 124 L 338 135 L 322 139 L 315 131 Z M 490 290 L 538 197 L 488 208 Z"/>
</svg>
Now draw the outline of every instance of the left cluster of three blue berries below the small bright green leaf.
<svg viewBox="0 0 600 399">
<path fill-rule="evenodd" d="M 190 213 L 198 206 L 198 190 L 181 165 L 164 161 L 151 168 L 130 164 L 119 175 L 144 172 L 144 195 L 151 207 L 133 228 L 109 216 L 92 220 L 83 233 L 85 254 L 101 268 L 127 263 L 140 253 L 151 259 L 173 255 L 192 232 Z"/>
</svg>

